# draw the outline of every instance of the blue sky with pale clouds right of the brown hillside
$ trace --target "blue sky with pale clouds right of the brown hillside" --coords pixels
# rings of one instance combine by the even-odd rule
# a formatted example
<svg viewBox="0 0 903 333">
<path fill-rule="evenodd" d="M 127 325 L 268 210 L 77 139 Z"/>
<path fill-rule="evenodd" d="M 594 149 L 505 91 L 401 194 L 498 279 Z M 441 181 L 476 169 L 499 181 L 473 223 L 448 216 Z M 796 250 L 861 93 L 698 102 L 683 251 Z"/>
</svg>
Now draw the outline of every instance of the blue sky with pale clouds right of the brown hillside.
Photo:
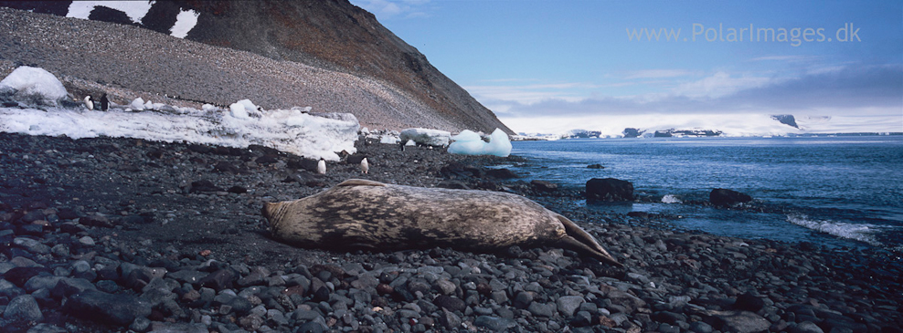
<svg viewBox="0 0 903 333">
<path fill-rule="evenodd" d="M 352 3 L 515 131 L 713 114 L 903 131 L 898 1 Z"/>
</svg>

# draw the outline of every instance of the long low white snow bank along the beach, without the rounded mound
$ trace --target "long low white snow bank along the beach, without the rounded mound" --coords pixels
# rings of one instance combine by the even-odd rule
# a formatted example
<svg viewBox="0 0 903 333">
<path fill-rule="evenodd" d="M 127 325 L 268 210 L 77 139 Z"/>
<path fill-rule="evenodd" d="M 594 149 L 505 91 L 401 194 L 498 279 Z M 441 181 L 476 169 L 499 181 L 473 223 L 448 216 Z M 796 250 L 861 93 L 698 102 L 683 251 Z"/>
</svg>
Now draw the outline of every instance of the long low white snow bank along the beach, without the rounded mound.
<svg viewBox="0 0 903 333">
<path fill-rule="evenodd" d="M 228 147 L 259 144 L 312 159 L 338 161 L 338 151 L 354 153 L 354 115 L 317 117 L 300 110 L 265 110 L 260 118 L 237 118 L 222 109 L 183 108 L 183 114 L 147 110 L 103 112 L 85 109 L 0 108 L 0 131 L 30 135 L 99 136 L 166 142 L 187 141 Z"/>
</svg>

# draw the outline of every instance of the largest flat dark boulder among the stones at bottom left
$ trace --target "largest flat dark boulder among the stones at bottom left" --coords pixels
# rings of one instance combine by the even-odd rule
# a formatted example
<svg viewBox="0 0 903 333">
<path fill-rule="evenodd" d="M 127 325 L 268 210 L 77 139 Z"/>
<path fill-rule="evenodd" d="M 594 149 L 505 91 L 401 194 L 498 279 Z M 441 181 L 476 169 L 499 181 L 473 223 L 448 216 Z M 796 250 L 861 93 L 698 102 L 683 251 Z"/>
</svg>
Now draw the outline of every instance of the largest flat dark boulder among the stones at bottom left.
<svg viewBox="0 0 903 333">
<path fill-rule="evenodd" d="M 126 294 L 107 294 L 96 290 L 72 295 L 64 306 L 64 311 L 101 323 L 127 326 L 137 317 L 151 315 L 147 302 Z"/>
</svg>

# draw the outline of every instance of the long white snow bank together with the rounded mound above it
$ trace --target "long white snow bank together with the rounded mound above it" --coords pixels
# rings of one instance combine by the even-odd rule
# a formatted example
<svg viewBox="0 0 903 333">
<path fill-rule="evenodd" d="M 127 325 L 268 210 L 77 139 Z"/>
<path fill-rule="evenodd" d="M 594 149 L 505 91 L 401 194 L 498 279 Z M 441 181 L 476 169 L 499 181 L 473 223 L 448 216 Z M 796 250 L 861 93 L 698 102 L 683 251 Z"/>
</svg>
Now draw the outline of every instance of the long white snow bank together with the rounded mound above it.
<svg viewBox="0 0 903 333">
<path fill-rule="evenodd" d="M 239 100 L 228 110 L 210 105 L 203 110 L 176 108 L 141 98 L 109 111 L 62 108 L 58 101 L 68 98 L 66 89 L 41 68 L 16 68 L 0 81 L 0 95 L 20 105 L 0 108 L 0 131 L 72 139 L 107 136 L 238 148 L 257 144 L 315 160 L 339 161 L 336 152 L 356 152 L 360 128 L 350 113 L 264 110 L 250 99 Z"/>
</svg>

